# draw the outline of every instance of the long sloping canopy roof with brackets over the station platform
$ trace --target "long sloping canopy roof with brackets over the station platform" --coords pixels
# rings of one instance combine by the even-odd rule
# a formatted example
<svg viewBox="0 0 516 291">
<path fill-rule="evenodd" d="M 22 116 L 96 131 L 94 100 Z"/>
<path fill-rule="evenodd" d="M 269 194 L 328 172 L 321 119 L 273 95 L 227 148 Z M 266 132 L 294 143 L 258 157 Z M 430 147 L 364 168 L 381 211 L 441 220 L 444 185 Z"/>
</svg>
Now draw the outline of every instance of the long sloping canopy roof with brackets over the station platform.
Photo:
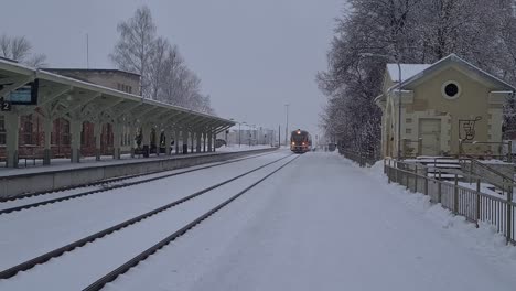
<svg viewBox="0 0 516 291">
<path fill-rule="evenodd" d="M 30 104 L 23 93 L 37 84 L 37 98 Z M 35 86 L 34 86 L 35 87 Z M 24 91 L 25 90 L 25 91 Z M 217 133 L 234 121 L 183 107 L 144 99 L 141 96 L 88 82 L 0 60 L 0 98 L 13 101 L 0 114 L 39 114 L 49 119 L 65 118 L 90 122 L 152 123 L 162 128 L 182 128 Z M 28 104 L 20 104 L 26 101 Z"/>
</svg>

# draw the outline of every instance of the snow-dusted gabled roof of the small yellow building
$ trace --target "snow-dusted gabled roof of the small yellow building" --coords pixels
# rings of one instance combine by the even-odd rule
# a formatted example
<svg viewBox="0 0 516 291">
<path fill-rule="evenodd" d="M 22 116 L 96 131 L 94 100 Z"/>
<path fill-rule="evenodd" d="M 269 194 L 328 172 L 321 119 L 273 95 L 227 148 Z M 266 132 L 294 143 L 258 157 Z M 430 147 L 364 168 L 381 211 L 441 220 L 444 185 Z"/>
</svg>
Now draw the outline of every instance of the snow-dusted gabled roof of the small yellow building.
<svg viewBox="0 0 516 291">
<path fill-rule="evenodd" d="M 390 87 L 388 90 L 394 90 L 394 89 L 397 89 L 398 86 L 401 86 L 401 88 L 415 83 L 416 80 L 422 78 L 423 76 L 427 76 L 428 74 L 432 73 L 432 72 L 436 72 L 447 65 L 449 65 L 450 63 L 454 63 L 454 64 L 458 64 L 462 67 L 464 67 L 465 69 L 469 69 L 469 71 L 472 71 L 472 72 L 475 72 L 477 74 L 480 74 L 482 77 L 493 82 L 494 84 L 497 84 L 498 86 L 503 87 L 504 90 L 510 90 L 510 91 L 515 91 L 516 88 L 514 86 L 512 86 L 510 84 L 495 77 L 494 75 L 483 71 L 482 68 L 471 64 L 470 62 L 466 62 L 464 61 L 463 58 L 459 57 L 458 55 L 455 54 L 450 54 L 449 56 L 444 57 L 444 58 L 441 58 L 440 61 L 438 61 L 437 63 L 433 63 L 431 65 L 413 65 L 413 64 L 409 64 L 408 67 L 406 68 L 406 76 L 407 78 L 404 80 L 401 80 L 401 84 L 399 84 L 399 82 L 394 85 L 393 87 Z M 389 65 L 390 65 L 390 68 L 389 68 Z M 404 68 L 404 65 L 405 64 L 401 64 L 401 68 Z M 394 67 L 394 69 L 393 69 Z M 397 77 L 394 77 L 394 76 L 397 76 L 397 65 L 396 64 L 388 64 L 387 65 L 387 71 L 391 77 L 391 79 L 396 79 L 397 80 Z M 410 77 L 408 77 L 410 74 L 412 74 Z M 401 77 L 404 78 L 404 75 L 401 75 Z"/>
</svg>

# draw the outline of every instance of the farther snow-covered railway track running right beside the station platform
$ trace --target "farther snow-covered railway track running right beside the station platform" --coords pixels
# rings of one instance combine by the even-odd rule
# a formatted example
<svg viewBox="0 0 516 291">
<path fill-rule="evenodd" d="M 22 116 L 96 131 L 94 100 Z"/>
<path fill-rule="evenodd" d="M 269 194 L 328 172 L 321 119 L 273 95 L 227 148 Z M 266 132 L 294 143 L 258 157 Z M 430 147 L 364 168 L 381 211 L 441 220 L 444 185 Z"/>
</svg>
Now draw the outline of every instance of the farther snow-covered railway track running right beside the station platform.
<svg viewBox="0 0 516 291">
<path fill-rule="evenodd" d="M 176 176 L 181 174 L 186 174 L 195 171 L 201 171 L 205 169 L 211 169 L 215 166 L 221 166 L 225 164 L 236 163 L 249 159 L 256 159 L 262 155 L 272 154 L 273 152 L 255 154 L 250 157 L 239 158 L 235 160 L 229 160 L 225 162 L 218 163 L 211 163 L 208 165 L 200 165 L 189 168 L 187 170 L 171 170 L 171 171 L 161 171 L 161 172 L 153 172 L 153 173 L 144 173 L 138 175 L 130 175 L 130 176 L 122 176 L 109 180 L 103 180 L 95 183 L 88 183 L 84 185 L 78 185 L 73 188 L 68 190 L 61 190 L 54 192 L 45 192 L 45 193 L 34 193 L 34 194 L 26 194 L 18 197 L 12 198 L 2 198 L 0 200 L 0 215 L 29 209 L 32 207 L 39 207 L 42 205 L 49 205 L 57 202 L 63 202 L 67 200 L 78 198 L 87 195 L 99 194 L 107 191 L 129 187 L 142 183 L 149 183 L 161 179 L 166 179 L 171 176 Z"/>
</svg>

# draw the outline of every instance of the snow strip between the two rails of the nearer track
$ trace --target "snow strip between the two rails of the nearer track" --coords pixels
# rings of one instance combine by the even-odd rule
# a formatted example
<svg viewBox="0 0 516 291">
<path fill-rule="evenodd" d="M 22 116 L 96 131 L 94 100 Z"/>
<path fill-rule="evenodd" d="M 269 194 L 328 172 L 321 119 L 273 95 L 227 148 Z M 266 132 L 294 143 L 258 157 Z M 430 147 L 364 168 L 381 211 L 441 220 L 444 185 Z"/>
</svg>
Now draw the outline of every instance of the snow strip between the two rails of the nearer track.
<svg viewBox="0 0 516 291">
<path fill-rule="evenodd" d="M 36 266 L 11 280 L 0 281 L 0 290 L 35 290 L 37 288 L 44 290 L 83 290 L 104 274 L 130 260 L 137 254 L 181 229 L 287 161 L 286 159 L 280 163 L 268 165 L 206 195 L 193 198 L 174 208 L 161 212 L 138 224 L 97 239 L 64 256 L 54 258 L 45 265 Z M 58 277 L 65 278 L 65 280 L 56 280 Z"/>
</svg>

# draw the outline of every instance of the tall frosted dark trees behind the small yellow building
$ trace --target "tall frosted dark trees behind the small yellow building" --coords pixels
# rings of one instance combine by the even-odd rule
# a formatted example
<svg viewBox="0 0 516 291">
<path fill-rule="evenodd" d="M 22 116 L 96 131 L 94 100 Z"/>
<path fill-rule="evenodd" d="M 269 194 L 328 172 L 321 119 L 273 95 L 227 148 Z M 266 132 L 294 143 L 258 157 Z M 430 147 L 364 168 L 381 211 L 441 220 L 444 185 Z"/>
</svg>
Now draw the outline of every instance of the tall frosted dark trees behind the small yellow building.
<svg viewBox="0 0 516 291">
<path fill-rule="evenodd" d="M 316 82 L 329 101 L 326 136 L 355 150 L 380 140 L 381 91 L 387 62 L 433 63 L 456 53 L 516 83 L 516 20 L 512 0 L 348 0 L 337 19 L 327 69 Z M 364 53 L 388 57 L 367 57 Z M 507 109 L 508 110 L 508 109 Z"/>
</svg>

